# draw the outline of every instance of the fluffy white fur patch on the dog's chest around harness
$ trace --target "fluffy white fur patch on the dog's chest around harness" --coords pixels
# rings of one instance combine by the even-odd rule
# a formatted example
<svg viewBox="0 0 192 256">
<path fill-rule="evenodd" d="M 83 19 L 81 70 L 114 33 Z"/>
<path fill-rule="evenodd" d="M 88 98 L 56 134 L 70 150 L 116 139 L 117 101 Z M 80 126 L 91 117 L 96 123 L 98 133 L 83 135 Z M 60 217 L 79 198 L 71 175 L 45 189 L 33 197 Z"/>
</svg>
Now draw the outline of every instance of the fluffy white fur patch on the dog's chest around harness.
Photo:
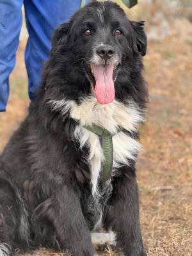
<svg viewBox="0 0 192 256">
<path fill-rule="evenodd" d="M 84 145 L 90 148 L 88 162 L 92 169 L 92 193 L 95 195 L 104 155 L 99 136 L 84 127 L 96 124 L 112 133 L 116 133 L 118 127 L 133 132 L 136 131 L 136 125 L 143 120 L 141 111 L 132 101 L 127 106 L 116 100 L 111 104 L 101 105 L 94 97 L 84 99 L 81 105 L 73 100 L 53 101 L 52 104 L 54 108 L 61 108 L 63 113 L 70 109 L 70 116 L 80 123 L 76 127 L 75 137 L 81 148 Z M 134 159 L 139 150 L 138 141 L 123 131 L 116 133 L 113 136 L 113 175 L 122 164 L 129 165 L 129 159 Z"/>
</svg>

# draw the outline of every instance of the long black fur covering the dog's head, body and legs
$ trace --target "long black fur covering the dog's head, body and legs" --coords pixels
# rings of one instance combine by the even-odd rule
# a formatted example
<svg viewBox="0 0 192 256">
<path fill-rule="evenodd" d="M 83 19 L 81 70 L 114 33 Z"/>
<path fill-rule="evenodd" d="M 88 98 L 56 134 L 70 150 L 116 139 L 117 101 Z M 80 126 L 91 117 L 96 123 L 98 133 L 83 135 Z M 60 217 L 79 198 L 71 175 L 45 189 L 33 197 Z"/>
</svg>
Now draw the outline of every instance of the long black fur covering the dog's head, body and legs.
<svg viewBox="0 0 192 256">
<path fill-rule="evenodd" d="M 92 35 L 84 35 L 86 29 Z M 122 35 L 115 36 L 115 29 Z M 143 115 L 147 103 L 141 75 L 147 48 L 143 22 L 128 20 L 110 1 L 90 3 L 54 32 L 51 58 L 45 63 L 36 100 L 1 155 L 0 255 L 38 246 L 67 249 L 78 256 L 97 254 L 90 236 L 98 212 L 90 164 L 85 161 L 89 147 L 79 147 L 74 138 L 80 123 L 71 117 L 70 108 L 62 112 L 50 102 L 65 99 L 80 106 L 93 94 L 89 61 L 94 47 L 101 43 L 113 47 L 119 60 L 115 100 L 125 105 L 133 100 Z M 118 168 L 111 180 L 113 190 L 104 200 L 102 223 L 115 231 L 125 255 L 145 256 L 135 161 L 129 163 Z M 102 199 L 105 196 L 103 193 Z"/>
</svg>

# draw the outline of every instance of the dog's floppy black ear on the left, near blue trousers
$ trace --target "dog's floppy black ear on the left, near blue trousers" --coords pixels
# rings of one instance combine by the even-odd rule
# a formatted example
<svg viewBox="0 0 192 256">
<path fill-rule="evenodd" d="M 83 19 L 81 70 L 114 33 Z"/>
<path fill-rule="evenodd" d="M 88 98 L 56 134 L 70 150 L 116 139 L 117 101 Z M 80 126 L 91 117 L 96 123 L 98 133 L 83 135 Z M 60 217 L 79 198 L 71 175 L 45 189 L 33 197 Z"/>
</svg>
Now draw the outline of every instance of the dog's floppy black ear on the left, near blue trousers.
<svg viewBox="0 0 192 256">
<path fill-rule="evenodd" d="M 61 43 L 65 44 L 69 26 L 69 23 L 63 23 L 54 31 L 51 40 L 51 52 L 57 51 L 57 48 Z"/>
</svg>

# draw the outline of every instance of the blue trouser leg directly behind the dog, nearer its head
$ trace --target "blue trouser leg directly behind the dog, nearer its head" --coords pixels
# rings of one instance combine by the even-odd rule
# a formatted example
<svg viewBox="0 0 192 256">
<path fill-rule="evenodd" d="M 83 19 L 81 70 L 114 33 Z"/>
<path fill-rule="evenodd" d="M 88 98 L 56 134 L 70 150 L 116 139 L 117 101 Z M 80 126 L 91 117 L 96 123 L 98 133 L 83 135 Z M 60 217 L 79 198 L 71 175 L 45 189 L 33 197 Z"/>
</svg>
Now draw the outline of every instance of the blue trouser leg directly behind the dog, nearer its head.
<svg viewBox="0 0 192 256">
<path fill-rule="evenodd" d="M 88 3 L 88 0 L 86 0 Z M 29 97 L 35 99 L 40 85 L 42 65 L 49 58 L 52 32 L 81 7 L 81 0 L 24 0 L 29 39 L 26 47 L 26 68 Z"/>
</svg>

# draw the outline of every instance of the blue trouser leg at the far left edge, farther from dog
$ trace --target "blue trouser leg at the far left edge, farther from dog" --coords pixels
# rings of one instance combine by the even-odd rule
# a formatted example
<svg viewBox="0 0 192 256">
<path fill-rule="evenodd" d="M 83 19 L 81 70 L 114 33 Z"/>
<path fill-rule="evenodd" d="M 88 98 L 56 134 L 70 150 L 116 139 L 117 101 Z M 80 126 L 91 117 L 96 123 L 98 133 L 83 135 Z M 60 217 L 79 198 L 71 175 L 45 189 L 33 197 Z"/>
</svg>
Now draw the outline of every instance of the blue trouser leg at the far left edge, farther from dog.
<svg viewBox="0 0 192 256">
<path fill-rule="evenodd" d="M 0 111 L 9 95 L 8 77 L 15 66 L 15 52 L 22 25 L 22 0 L 0 0 Z"/>
</svg>

